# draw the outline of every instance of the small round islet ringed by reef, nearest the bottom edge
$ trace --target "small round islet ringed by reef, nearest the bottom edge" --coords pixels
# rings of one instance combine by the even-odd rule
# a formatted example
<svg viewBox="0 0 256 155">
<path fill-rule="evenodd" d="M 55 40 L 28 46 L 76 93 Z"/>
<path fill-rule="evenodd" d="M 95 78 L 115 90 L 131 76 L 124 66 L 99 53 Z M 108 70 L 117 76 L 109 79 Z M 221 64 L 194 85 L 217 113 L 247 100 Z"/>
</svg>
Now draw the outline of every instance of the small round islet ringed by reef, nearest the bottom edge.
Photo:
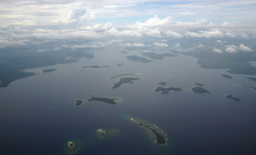
<svg viewBox="0 0 256 155">
<path fill-rule="evenodd" d="M 79 153 L 79 150 L 84 147 L 84 142 L 80 141 L 79 139 L 68 141 L 65 144 L 64 149 L 62 149 L 62 155 L 75 155 Z"/>
</svg>

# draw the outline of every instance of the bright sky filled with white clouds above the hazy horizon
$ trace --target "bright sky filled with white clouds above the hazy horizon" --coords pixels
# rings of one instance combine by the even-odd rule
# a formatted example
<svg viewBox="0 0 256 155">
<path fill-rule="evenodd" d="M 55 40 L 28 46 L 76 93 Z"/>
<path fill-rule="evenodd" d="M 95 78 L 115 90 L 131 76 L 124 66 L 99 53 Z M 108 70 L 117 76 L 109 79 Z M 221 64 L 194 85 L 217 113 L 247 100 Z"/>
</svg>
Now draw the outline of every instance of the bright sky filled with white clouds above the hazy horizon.
<svg viewBox="0 0 256 155">
<path fill-rule="evenodd" d="M 104 38 L 111 44 L 123 37 L 216 38 L 223 43 L 223 38 L 255 38 L 255 15 L 255 0 L 1 0 L 0 48 Z M 82 46 L 104 45 L 72 48 Z M 230 53 L 253 51 L 249 45 L 229 46 Z"/>
</svg>

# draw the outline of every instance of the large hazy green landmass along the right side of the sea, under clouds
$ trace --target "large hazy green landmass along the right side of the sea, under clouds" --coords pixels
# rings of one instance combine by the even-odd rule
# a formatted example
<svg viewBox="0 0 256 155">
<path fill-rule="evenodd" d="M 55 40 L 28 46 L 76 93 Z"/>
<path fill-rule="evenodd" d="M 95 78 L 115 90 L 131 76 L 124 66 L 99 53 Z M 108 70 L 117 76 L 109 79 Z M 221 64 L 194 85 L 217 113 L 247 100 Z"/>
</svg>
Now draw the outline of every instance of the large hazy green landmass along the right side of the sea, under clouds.
<svg viewBox="0 0 256 155">
<path fill-rule="evenodd" d="M 224 49 L 223 49 L 224 51 Z M 212 48 L 196 48 L 194 51 L 182 52 L 186 56 L 198 58 L 198 64 L 206 69 L 226 69 L 228 73 L 256 75 L 256 68 L 250 65 L 250 61 L 256 61 L 256 52 L 238 52 L 218 54 Z"/>
</svg>

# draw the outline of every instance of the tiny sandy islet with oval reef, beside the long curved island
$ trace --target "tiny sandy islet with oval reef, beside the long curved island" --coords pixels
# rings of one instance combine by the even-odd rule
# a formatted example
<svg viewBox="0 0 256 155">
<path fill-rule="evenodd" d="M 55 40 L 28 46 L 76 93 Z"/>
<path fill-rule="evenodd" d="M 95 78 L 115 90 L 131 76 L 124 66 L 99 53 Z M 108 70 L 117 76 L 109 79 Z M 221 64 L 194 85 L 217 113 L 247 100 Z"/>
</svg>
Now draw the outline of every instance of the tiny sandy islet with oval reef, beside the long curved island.
<svg viewBox="0 0 256 155">
<path fill-rule="evenodd" d="M 119 129 L 99 129 L 96 130 L 95 135 L 99 140 L 111 140 L 121 134 Z"/>
</svg>

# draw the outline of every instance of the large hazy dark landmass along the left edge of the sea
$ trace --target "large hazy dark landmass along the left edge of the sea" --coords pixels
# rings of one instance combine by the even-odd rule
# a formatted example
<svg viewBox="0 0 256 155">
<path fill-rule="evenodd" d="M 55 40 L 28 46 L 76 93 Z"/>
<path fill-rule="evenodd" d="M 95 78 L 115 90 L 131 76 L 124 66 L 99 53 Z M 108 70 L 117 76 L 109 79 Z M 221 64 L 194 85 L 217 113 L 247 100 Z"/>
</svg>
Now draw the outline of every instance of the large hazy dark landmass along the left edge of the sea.
<svg viewBox="0 0 256 155">
<path fill-rule="evenodd" d="M 7 87 L 15 80 L 36 75 L 34 72 L 20 70 L 77 62 L 82 57 L 90 59 L 94 56 L 84 51 L 68 49 L 44 52 L 29 51 L 25 47 L 24 49 L 2 49 L 0 52 L 0 81 L 2 81 L 0 87 Z"/>
</svg>

